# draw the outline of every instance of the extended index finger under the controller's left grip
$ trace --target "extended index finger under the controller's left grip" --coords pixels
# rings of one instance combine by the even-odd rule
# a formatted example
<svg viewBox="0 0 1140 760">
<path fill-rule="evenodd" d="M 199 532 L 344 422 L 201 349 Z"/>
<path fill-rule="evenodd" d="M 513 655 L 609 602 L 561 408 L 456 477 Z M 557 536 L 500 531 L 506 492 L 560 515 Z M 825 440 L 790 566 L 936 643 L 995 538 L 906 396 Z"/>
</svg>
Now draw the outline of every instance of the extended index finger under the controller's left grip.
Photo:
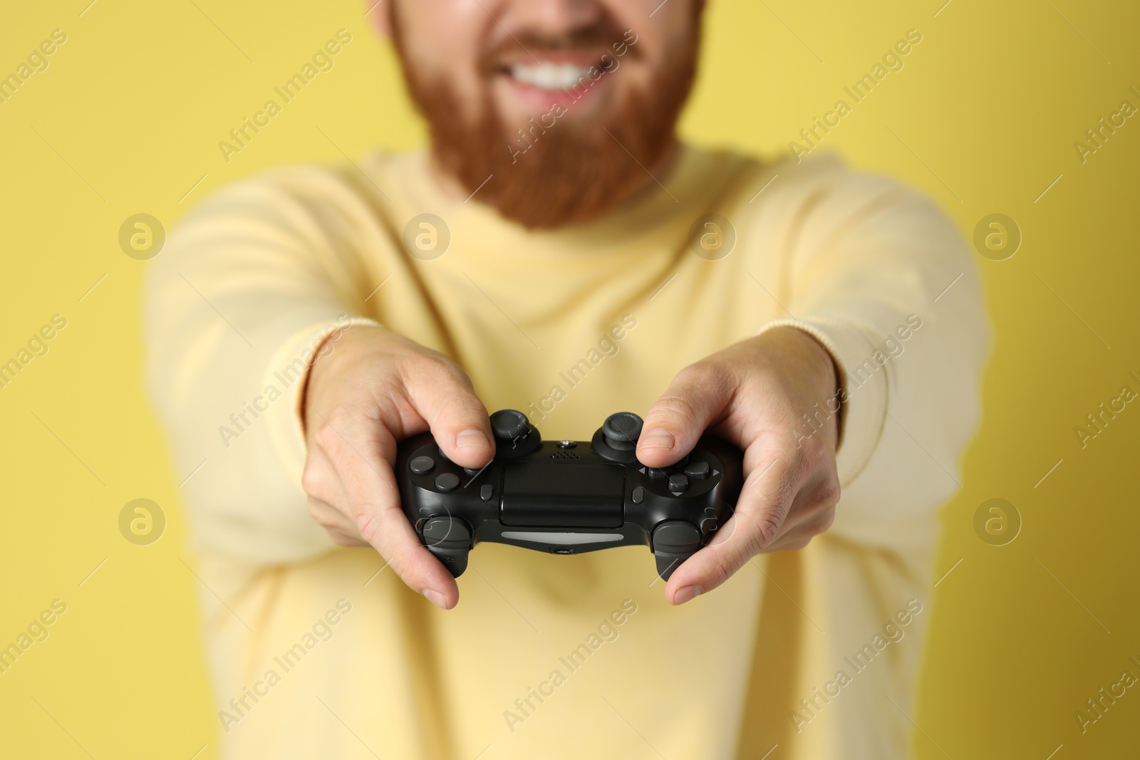
<svg viewBox="0 0 1140 760">
<path fill-rule="evenodd" d="M 336 465 L 356 530 L 400 579 L 433 604 L 450 610 L 459 600 L 451 573 L 420 542 L 400 508 L 400 492 L 385 452 L 396 441 L 385 428 L 339 431 L 332 424 L 318 435 Z"/>
</svg>

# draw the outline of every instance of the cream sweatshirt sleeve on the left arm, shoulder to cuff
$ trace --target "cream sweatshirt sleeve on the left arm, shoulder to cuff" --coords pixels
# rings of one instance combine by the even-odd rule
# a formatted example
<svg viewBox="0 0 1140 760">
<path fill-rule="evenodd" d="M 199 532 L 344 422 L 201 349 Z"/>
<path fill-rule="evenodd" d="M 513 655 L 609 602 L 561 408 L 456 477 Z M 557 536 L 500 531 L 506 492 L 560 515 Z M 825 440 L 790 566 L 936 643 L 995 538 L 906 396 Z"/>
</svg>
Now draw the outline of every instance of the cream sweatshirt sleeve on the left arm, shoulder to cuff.
<svg viewBox="0 0 1140 760">
<path fill-rule="evenodd" d="M 180 223 L 152 265 L 148 385 L 198 551 L 276 563 L 333 546 L 299 485 L 296 415 L 315 349 L 368 321 L 351 224 L 317 201 L 347 193 L 320 169 L 235 185 Z"/>
</svg>

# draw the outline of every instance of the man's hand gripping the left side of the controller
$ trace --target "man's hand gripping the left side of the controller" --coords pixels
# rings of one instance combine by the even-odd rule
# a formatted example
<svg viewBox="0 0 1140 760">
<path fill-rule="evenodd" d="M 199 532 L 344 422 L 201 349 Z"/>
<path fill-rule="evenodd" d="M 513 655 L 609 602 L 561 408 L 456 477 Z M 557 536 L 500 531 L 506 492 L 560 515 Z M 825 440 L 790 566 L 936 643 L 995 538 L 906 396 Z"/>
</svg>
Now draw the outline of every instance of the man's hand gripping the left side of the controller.
<svg viewBox="0 0 1140 760">
<path fill-rule="evenodd" d="M 467 375 L 441 353 L 357 325 L 314 362 L 304 422 L 301 484 L 316 521 L 341 546 L 372 546 L 410 588 L 454 607 L 459 588 L 400 508 L 392 464 L 397 441 L 426 430 L 461 466 L 491 460 L 487 409 Z"/>
</svg>

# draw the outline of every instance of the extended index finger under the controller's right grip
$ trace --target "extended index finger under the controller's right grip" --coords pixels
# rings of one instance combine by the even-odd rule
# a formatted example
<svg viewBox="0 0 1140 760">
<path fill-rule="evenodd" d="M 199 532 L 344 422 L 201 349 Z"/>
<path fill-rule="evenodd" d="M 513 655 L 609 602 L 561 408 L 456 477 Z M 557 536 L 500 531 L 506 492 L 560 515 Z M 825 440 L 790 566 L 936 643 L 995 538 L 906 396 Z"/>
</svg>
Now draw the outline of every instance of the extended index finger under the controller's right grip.
<svg viewBox="0 0 1140 760">
<path fill-rule="evenodd" d="M 775 459 L 754 467 L 735 513 L 708 546 L 673 573 L 665 598 L 670 604 L 684 604 L 728 580 L 775 540 L 795 495 L 795 473 L 788 464 Z"/>
</svg>

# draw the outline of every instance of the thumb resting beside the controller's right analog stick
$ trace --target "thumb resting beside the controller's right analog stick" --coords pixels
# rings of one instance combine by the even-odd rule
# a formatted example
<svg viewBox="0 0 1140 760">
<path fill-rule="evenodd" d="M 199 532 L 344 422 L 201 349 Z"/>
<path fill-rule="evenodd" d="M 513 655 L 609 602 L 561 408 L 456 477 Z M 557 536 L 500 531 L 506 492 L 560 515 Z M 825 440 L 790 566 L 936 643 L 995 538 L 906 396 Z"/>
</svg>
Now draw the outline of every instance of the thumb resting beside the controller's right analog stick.
<svg viewBox="0 0 1140 760">
<path fill-rule="evenodd" d="M 720 365 L 685 367 L 645 414 L 637 459 L 666 467 L 692 451 L 697 440 L 718 420 L 732 399 L 735 379 Z"/>
</svg>

